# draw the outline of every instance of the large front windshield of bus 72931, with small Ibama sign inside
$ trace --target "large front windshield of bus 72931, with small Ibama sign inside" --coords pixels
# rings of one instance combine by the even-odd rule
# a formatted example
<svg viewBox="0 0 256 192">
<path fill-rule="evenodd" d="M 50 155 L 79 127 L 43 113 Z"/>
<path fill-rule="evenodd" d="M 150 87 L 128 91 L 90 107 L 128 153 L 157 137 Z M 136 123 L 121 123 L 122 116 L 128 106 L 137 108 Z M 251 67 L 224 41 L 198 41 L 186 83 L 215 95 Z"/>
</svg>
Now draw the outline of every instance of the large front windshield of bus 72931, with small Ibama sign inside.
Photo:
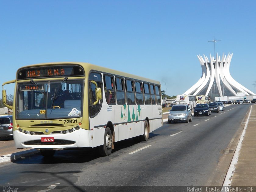
<svg viewBox="0 0 256 192">
<path fill-rule="evenodd" d="M 62 119 L 82 116 L 84 80 L 17 84 L 17 119 Z"/>
</svg>

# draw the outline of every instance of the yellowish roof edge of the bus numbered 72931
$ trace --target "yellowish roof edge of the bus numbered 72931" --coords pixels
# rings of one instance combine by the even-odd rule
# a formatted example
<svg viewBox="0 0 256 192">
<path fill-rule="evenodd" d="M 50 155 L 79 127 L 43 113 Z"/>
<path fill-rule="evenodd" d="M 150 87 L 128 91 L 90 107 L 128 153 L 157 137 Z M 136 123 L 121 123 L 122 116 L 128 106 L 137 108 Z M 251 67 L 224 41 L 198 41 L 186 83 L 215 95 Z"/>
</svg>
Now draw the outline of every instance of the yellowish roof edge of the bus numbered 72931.
<svg viewBox="0 0 256 192">
<path fill-rule="evenodd" d="M 145 77 L 141 77 L 141 76 L 137 76 L 137 75 L 132 75 L 130 73 L 125 73 L 125 72 L 121 72 L 115 69 L 109 69 L 106 67 L 101 67 L 101 66 L 97 66 L 97 65 L 93 65 L 91 63 L 86 63 L 86 62 L 50 62 L 50 63 L 38 63 L 38 64 L 33 64 L 33 65 L 29 65 L 29 66 L 24 66 L 19 68 L 17 71 L 19 71 L 20 69 L 25 69 L 25 68 L 29 68 L 29 67 L 36 67 L 36 66 L 53 66 L 53 65 L 80 65 L 84 68 L 85 72 L 89 72 L 91 70 L 95 70 L 95 71 L 100 71 L 100 72 L 105 72 L 105 73 L 110 73 L 110 74 L 114 74 L 117 76 L 123 76 L 123 77 L 127 77 L 127 78 L 132 78 L 132 79 L 137 79 L 137 80 L 142 80 L 144 82 L 150 82 L 150 83 L 154 83 L 154 84 L 159 84 L 159 81 L 156 80 L 152 80 L 152 79 L 148 79 Z"/>
</svg>

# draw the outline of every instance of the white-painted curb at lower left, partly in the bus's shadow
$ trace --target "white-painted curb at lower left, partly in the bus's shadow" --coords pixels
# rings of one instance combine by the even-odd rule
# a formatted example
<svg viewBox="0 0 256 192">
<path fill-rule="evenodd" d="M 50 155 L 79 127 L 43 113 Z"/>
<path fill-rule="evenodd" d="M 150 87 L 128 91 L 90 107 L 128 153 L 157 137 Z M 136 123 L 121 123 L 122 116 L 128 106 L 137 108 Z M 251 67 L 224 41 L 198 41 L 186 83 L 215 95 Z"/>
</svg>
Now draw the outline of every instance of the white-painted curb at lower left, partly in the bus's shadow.
<svg viewBox="0 0 256 192">
<path fill-rule="evenodd" d="M 8 154 L 8 155 L 2 155 L 2 156 L 0 156 L 0 163 L 8 162 L 8 161 L 16 161 L 16 160 L 21 159 L 23 157 L 25 158 L 29 155 L 33 155 L 33 154 L 36 154 L 36 153 L 39 153 L 39 152 L 40 151 L 38 151 L 37 149 L 30 149 L 30 150 L 27 150 L 27 151 L 20 151 L 20 152 Z"/>
</svg>

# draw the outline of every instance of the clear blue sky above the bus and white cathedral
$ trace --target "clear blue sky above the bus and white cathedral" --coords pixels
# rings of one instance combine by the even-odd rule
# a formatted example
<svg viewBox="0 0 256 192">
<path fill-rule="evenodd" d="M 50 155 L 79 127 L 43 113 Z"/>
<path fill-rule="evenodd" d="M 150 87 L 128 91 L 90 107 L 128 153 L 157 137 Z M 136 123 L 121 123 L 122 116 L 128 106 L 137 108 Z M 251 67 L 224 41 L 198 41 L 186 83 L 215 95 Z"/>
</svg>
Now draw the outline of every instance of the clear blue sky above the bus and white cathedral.
<svg viewBox="0 0 256 192">
<path fill-rule="evenodd" d="M 0 0 L 0 83 L 22 66 L 77 61 L 159 80 L 168 95 L 183 94 L 201 77 L 197 55 L 214 55 L 208 41 L 215 37 L 219 55 L 233 53 L 231 76 L 254 92 L 255 7 L 233 0 Z"/>
</svg>

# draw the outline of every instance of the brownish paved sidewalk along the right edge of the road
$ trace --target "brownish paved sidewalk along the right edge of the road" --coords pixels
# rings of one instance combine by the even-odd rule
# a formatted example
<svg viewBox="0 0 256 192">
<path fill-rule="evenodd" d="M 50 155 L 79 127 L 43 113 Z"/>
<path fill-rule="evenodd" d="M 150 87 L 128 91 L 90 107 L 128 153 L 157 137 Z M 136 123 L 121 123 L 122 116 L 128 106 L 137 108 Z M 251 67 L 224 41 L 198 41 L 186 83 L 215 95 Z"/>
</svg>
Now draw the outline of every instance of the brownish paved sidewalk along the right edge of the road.
<svg viewBox="0 0 256 192">
<path fill-rule="evenodd" d="M 229 185 L 256 186 L 256 105 L 252 105 L 247 128 Z M 254 189 L 256 190 L 256 189 Z"/>
</svg>

